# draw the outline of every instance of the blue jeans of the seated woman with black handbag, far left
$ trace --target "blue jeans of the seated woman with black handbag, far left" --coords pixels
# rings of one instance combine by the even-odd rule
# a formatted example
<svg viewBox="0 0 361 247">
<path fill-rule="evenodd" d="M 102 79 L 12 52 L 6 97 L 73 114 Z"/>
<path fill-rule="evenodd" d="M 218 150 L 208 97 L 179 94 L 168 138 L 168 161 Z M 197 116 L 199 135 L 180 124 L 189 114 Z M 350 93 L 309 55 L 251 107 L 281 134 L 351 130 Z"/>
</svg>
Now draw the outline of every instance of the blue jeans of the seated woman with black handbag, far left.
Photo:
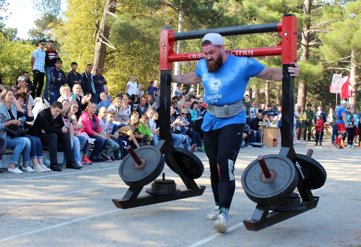
<svg viewBox="0 0 361 247">
<path fill-rule="evenodd" d="M 13 149 L 13 155 L 11 156 L 11 164 L 17 164 L 20 154 L 23 154 L 23 163 L 29 164 L 31 142 L 26 137 L 15 137 L 11 139 L 6 136 L 6 148 Z"/>
</svg>

